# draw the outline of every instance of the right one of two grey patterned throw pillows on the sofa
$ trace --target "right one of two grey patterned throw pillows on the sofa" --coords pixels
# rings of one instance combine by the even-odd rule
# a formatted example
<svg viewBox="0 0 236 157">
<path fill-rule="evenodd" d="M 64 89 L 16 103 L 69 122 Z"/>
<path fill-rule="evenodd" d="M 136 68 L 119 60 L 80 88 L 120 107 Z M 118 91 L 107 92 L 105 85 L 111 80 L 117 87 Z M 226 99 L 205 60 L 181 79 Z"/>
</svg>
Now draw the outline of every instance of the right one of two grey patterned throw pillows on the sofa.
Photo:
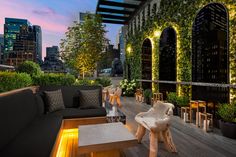
<svg viewBox="0 0 236 157">
<path fill-rule="evenodd" d="M 86 108 L 87 106 L 99 105 L 99 89 L 93 90 L 79 90 L 79 106 Z"/>
</svg>

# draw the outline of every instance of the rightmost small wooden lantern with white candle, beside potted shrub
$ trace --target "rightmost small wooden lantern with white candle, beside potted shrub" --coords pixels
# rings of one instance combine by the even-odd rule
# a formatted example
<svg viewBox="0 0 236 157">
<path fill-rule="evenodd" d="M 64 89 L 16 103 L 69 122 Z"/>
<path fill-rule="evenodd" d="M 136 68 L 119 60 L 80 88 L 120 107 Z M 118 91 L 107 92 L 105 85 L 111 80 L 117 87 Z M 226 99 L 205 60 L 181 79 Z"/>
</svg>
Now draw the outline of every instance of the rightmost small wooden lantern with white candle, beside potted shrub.
<svg viewBox="0 0 236 157">
<path fill-rule="evenodd" d="M 208 121 L 209 121 L 209 126 L 208 126 Z M 213 129 L 213 115 L 210 113 L 199 113 L 199 122 L 200 122 L 200 128 L 202 128 L 202 123 L 203 123 L 203 129 L 204 131 L 212 131 Z M 211 128 L 211 129 L 209 129 Z"/>
</svg>

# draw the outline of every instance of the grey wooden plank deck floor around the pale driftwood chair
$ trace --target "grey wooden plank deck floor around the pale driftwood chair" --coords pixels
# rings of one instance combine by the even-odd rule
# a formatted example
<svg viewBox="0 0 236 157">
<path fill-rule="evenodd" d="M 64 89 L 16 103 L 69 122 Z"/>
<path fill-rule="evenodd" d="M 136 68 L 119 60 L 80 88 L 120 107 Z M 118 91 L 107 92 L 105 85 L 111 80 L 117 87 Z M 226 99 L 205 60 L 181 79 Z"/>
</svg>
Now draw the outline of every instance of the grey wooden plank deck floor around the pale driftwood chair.
<svg viewBox="0 0 236 157">
<path fill-rule="evenodd" d="M 137 130 L 137 123 L 134 117 L 139 112 L 147 111 L 151 106 L 136 102 L 134 98 L 123 98 L 122 111 L 127 116 L 127 127 L 131 128 L 131 132 Z M 179 117 L 172 118 L 171 132 L 178 153 L 169 153 L 165 150 L 164 144 L 159 144 L 158 156 L 160 157 L 234 157 L 236 156 L 236 140 L 223 137 L 218 129 L 213 133 L 206 133 L 202 129 L 197 128 L 194 124 L 183 122 Z M 125 150 L 127 156 L 139 156 L 140 154 L 147 156 L 149 151 L 149 133 L 147 132 L 143 138 L 142 144 L 136 148 Z M 142 149 L 145 147 L 146 149 Z M 141 151 L 137 151 L 137 149 Z M 147 151 L 143 153 L 142 151 Z"/>
</svg>

